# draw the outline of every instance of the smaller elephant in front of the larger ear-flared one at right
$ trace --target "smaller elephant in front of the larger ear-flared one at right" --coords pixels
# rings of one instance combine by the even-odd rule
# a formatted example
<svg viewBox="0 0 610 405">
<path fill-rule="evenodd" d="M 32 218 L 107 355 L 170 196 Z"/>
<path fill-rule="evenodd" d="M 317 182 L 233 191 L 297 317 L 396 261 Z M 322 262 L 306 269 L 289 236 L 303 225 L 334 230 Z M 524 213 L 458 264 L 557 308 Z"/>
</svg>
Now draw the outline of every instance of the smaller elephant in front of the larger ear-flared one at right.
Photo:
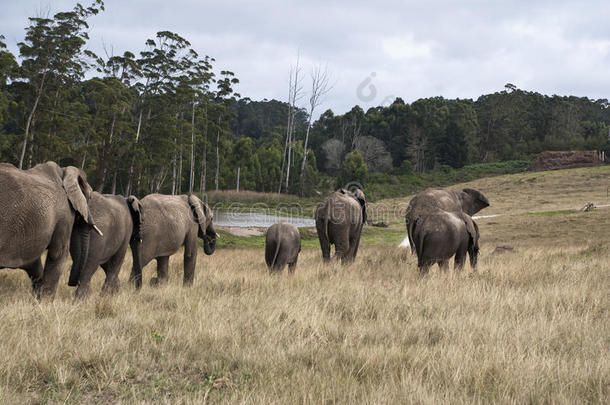
<svg viewBox="0 0 610 405">
<path fill-rule="evenodd" d="M 461 270 L 470 257 L 470 265 L 476 269 L 479 255 L 479 227 L 463 212 L 436 210 L 415 219 L 413 241 L 417 252 L 417 265 L 422 274 L 430 266 L 438 264 L 447 270 L 448 261 L 455 255 L 454 268 Z"/>
</svg>

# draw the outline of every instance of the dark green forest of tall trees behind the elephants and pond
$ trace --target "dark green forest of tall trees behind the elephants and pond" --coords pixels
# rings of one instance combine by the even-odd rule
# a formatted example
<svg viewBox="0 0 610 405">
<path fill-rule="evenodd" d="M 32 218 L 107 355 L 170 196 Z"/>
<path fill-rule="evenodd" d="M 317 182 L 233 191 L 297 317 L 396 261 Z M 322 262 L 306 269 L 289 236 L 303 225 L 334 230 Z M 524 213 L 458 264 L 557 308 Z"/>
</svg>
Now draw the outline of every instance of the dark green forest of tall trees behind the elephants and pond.
<svg viewBox="0 0 610 405">
<path fill-rule="evenodd" d="M 293 80 L 291 70 L 288 100 L 254 101 L 238 93 L 234 72 L 218 70 L 178 33 L 160 31 L 120 56 L 94 54 L 88 20 L 103 10 L 95 0 L 30 18 L 18 55 L 0 35 L 0 161 L 74 165 L 107 193 L 309 196 L 349 181 L 484 171 L 545 150 L 610 149 L 607 99 L 510 83 L 476 100 L 396 98 L 314 120 L 323 103 L 298 105 L 292 90 L 315 87 L 306 75 Z"/>
</svg>

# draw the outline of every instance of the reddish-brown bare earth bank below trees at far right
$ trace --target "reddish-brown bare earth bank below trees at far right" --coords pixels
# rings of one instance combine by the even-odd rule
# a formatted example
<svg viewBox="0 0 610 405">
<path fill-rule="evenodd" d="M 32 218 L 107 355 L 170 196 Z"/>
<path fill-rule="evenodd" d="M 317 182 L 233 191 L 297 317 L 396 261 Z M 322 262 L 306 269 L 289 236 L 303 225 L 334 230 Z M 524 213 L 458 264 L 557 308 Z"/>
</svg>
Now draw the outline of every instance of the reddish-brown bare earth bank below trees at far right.
<svg viewBox="0 0 610 405">
<path fill-rule="evenodd" d="M 604 164 L 605 160 L 605 153 L 596 150 L 546 151 L 532 162 L 528 171 L 600 166 Z"/>
</svg>

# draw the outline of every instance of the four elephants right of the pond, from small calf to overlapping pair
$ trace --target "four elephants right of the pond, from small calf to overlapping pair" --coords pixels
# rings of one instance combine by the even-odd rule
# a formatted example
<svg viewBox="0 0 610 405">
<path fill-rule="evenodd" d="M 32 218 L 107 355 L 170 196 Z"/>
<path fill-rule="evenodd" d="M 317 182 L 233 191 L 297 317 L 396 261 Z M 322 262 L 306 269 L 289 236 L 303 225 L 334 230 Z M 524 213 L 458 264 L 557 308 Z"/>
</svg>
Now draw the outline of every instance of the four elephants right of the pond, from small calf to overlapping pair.
<svg viewBox="0 0 610 405">
<path fill-rule="evenodd" d="M 470 188 L 461 191 L 429 188 L 415 196 L 405 219 L 420 272 L 426 274 L 434 264 L 446 270 L 454 256 L 455 268 L 461 269 L 466 255 L 476 268 L 479 227 L 472 215 L 488 206 L 487 197 Z M 366 217 L 366 198 L 360 189 L 338 190 L 318 204 L 316 231 L 324 262 L 331 260 L 330 245 L 335 245 L 333 260 L 343 264 L 354 261 Z M 265 259 L 272 271 L 281 270 L 286 264 L 294 271 L 300 250 L 301 239 L 294 225 L 281 222 L 267 230 Z"/>
</svg>

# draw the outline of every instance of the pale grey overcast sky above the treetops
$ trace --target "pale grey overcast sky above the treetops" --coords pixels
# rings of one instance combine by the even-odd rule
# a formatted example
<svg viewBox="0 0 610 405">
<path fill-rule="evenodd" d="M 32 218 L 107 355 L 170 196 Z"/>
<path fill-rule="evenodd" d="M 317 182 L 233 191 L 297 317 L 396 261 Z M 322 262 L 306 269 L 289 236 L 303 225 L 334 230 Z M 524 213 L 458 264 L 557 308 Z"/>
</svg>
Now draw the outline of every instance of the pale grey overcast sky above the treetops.
<svg viewBox="0 0 610 405">
<path fill-rule="evenodd" d="M 89 4 L 86 0 L 82 4 Z M 76 1 L 0 0 L 0 34 L 17 53 L 27 17 Z M 334 88 L 322 110 L 365 110 L 395 97 L 474 98 L 506 83 L 544 94 L 610 97 L 610 1 L 106 0 L 91 18 L 88 47 L 138 53 L 170 30 L 238 92 L 285 100 L 300 50 L 308 73 L 328 64 Z M 309 78 L 304 83 L 309 88 Z M 303 103 L 306 98 L 303 98 Z M 318 115 L 316 114 L 316 115 Z"/>
</svg>

